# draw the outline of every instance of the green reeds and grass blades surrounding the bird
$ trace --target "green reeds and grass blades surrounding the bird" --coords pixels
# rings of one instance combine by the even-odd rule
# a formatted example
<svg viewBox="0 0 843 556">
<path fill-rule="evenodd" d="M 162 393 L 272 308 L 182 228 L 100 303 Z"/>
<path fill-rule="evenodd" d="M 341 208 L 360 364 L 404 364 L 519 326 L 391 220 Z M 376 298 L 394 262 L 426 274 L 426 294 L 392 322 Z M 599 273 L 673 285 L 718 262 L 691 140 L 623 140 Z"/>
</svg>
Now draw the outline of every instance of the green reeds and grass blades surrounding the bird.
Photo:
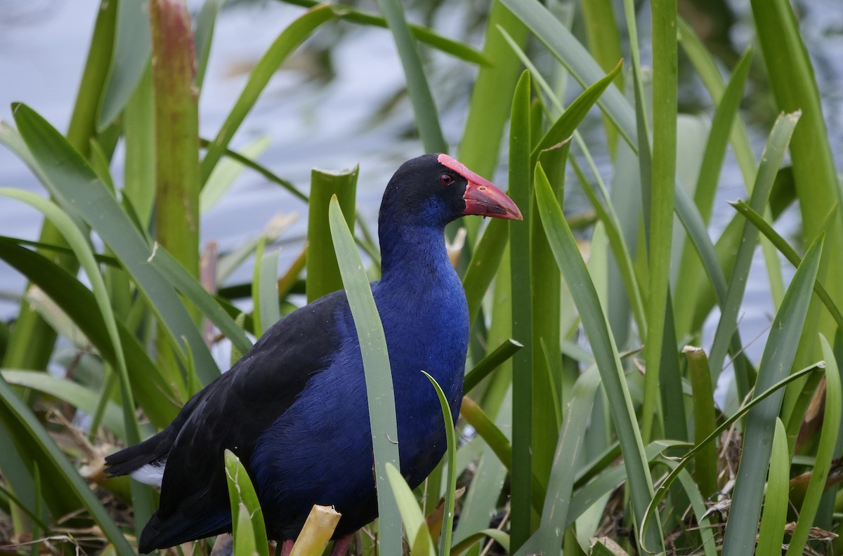
<svg viewBox="0 0 843 556">
<path fill-rule="evenodd" d="M 102 452 L 164 428 L 217 377 L 213 343 L 230 342 L 236 359 L 250 348 L 247 333 L 260 335 L 300 304 L 291 294 L 311 301 L 345 287 L 368 388 L 365 402 L 349 403 L 368 403 L 372 415 L 381 517 L 370 531 L 380 553 L 401 553 L 402 527 L 406 547 L 419 555 L 476 556 L 492 541 L 507 553 L 554 556 L 667 547 L 731 556 L 779 553 L 782 543 L 789 555 L 840 553 L 843 544 L 822 546 L 812 529 L 843 532 L 843 496 L 829 480 L 841 456 L 843 409 L 840 183 L 790 3 L 753 0 L 746 15 L 757 42 L 723 64 L 673 2 L 649 6 L 651 36 L 639 35 L 641 6 L 632 0 L 619 13 L 611 2 L 583 0 L 583 21 L 558 3 L 492 0 L 478 19 L 482 51 L 452 27 L 446 34 L 408 23 L 411 3 L 400 0 L 380 0 L 383 17 L 339 3 L 287 2 L 307 9 L 260 56 L 210 141 L 198 135 L 196 105 L 220 0 L 207 0 L 192 27 L 185 6 L 169 2 L 180 30 L 164 29 L 175 16 L 160 3 L 144 11 L 103 2 L 67 134 L 22 103 L 13 124 L 0 122 L 0 142 L 51 196 L 0 184 L 4 202 L 23 201 L 46 222 L 37 241 L 0 229 L 0 260 L 30 281 L 17 318 L 0 326 L 0 532 L 8 522 L 15 538 L 56 539 L 70 527 L 97 532 L 85 550 L 133 553 L 132 533 L 154 510 L 154 494 L 103 480 Z M 471 320 L 465 398 L 455 425 L 443 402 L 447 461 L 416 492 L 398 471 L 400 408 L 368 286 L 379 253 L 372 222 L 357 217 L 357 168 L 314 171 L 305 195 L 302 184 L 257 160 L 268 138 L 232 147 L 255 105 L 271 101 L 264 93 L 278 67 L 310 37 L 346 24 L 393 35 L 416 150 L 459 145 L 462 162 L 506 181 L 524 213 L 524 222 L 460 222 L 468 239 L 457 268 Z M 619 63 L 625 44 L 631 59 Z M 463 91 L 446 88 L 431 50 L 466 70 L 479 67 L 470 94 L 459 97 L 462 136 L 440 114 L 451 118 L 443 99 Z M 167 52 L 169 66 L 153 64 L 152 51 Z M 652 52 L 652 72 L 642 51 Z M 766 74 L 755 71 L 759 59 Z M 711 126 L 699 136 L 681 131 L 690 117 L 677 114 L 683 73 L 699 78 L 710 97 Z M 777 110 L 791 112 L 775 123 L 776 114 L 766 114 L 766 127 L 741 110 L 748 94 L 765 88 Z M 754 104 L 754 115 L 766 110 Z M 378 124 L 368 132 L 379 132 Z M 588 133 L 578 131 L 583 126 Z M 768 136 L 760 157 L 749 126 Z M 117 144 L 123 176 L 113 169 Z M 730 151 L 747 191 L 731 206 L 721 200 Z M 699 168 L 686 167 L 692 159 Z M 781 168 L 788 159 L 792 168 Z M 277 240 L 289 221 L 198 262 L 203 212 L 228 202 L 244 169 L 310 203 L 307 243 L 298 243 L 287 268 L 278 268 Z M 801 226 L 782 237 L 778 219 L 794 200 Z M 728 217 L 713 218 L 718 211 Z M 738 324 L 759 247 L 767 274 L 752 279 L 766 280 L 776 316 L 754 361 Z M 787 281 L 780 254 L 797 269 Z M 252 283 L 228 284 L 253 255 Z M 252 310 L 238 308 L 239 299 L 250 299 Z M 717 331 L 707 345 L 712 315 Z M 44 372 L 48 364 L 73 372 L 56 377 Z M 720 382 L 727 393 L 717 405 L 714 387 L 730 364 L 735 379 Z M 93 417 L 88 436 L 69 432 L 66 418 L 77 411 Z M 735 430 L 742 450 L 730 440 Z M 225 464 L 234 552 L 266 554 L 246 468 L 231 452 Z M 737 469 L 735 481 L 728 469 Z M 457 485 L 466 487 L 462 497 Z M 719 492 L 728 511 L 712 508 Z M 110 500 L 130 504 L 134 521 Z M 796 521 L 790 533 L 788 521 Z M 634 543 L 601 522 L 628 527 Z M 298 547 L 321 553 L 334 529 L 314 527 L 324 534 Z M 356 554 L 373 554 L 361 538 Z"/>
</svg>

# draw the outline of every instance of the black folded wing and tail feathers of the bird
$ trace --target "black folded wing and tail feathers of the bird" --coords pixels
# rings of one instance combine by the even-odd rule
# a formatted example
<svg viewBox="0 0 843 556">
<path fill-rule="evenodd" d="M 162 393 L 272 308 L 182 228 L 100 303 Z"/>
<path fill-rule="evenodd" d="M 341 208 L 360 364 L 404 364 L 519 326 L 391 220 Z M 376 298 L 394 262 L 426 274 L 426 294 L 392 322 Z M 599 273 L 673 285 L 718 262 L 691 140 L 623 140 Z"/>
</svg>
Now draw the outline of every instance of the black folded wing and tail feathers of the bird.
<svg viewBox="0 0 843 556">
<path fill-rule="evenodd" d="M 167 460 L 161 503 L 144 529 L 141 552 L 230 531 L 224 450 L 249 469 L 260 434 L 330 365 L 342 343 L 336 318 L 347 311 L 345 292 L 336 291 L 282 318 L 166 429 L 106 458 L 115 475 Z"/>
</svg>

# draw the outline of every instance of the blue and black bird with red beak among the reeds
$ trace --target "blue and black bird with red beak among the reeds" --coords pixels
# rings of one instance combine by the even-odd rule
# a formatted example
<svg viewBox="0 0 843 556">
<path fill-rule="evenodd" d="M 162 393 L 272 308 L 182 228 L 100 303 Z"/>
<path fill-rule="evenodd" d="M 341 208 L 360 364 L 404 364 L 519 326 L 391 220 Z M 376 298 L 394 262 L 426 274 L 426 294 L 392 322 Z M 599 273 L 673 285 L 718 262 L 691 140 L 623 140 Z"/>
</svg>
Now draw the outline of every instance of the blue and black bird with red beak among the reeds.
<svg viewBox="0 0 843 556">
<path fill-rule="evenodd" d="M 421 484 L 446 450 L 432 375 L 459 415 L 469 316 L 444 228 L 464 215 L 523 220 L 490 181 L 444 153 L 403 163 L 384 191 L 381 278 L 371 284 L 384 326 L 400 471 Z M 149 553 L 232 531 L 223 452 L 255 484 L 267 537 L 284 551 L 314 504 L 341 513 L 332 553 L 378 516 L 366 383 L 345 291 L 298 308 L 266 330 L 227 372 L 190 398 L 158 434 L 105 458 L 110 476 L 161 489 L 142 530 Z"/>
</svg>

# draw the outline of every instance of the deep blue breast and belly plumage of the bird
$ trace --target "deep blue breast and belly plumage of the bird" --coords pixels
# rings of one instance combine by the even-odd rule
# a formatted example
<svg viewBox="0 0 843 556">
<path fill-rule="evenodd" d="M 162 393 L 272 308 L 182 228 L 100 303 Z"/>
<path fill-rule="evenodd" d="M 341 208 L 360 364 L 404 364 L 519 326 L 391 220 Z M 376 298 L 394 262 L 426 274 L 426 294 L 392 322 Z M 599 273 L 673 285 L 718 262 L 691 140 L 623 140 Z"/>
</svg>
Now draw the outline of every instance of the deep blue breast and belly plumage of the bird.
<svg viewBox="0 0 843 556">
<path fill-rule="evenodd" d="M 456 418 L 469 331 L 464 291 L 450 265 L 443 267 L 447 259 L 416 263 L 419 268 L 406 269 L 400 281 L 385 275 L 373 283 L 395 389 L 401 471 L 411 487 L 427 478 L 446 449 L 438 397 L 421 371 L 443 388 Z M 336 356 L 255 446 L 250 467 L 268 527 L 283 523 L 294 532 L 313 504 L 334 505 L 343 514 L 339 534 L 377 515 L 360 346 L 346 303 L 335 316 L 343 339 Z"/>
</svg>

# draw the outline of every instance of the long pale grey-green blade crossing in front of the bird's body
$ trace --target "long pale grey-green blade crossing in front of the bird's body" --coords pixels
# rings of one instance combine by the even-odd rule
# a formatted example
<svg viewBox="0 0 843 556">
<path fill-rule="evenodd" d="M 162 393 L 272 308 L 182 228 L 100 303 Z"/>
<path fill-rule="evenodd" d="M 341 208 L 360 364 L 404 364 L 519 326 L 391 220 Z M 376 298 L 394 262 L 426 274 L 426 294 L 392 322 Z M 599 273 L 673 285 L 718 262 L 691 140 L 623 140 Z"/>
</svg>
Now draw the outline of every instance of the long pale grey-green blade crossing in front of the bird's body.
<svg viewBox="0 0 843 556">
<path fill-rule="evenodd" d="M 389 487 L 386 464 L 400 468 L 398 458 L 398 426 L 395 417 L 395 394 L 392 372 L 386 350 L 384 325 L 380 322 L 360 254 L 354 245 L 351 230 L 342 216 L 340 203 L 331 199 L 329 208 L 330 235 L 336 249 L 342 283 L 348 305 L 352 309 L 363 369 L 366 374 L 366 397 L 369 422 L 372 426 L 375 479 L 378 488 L 379 536 L 384 553 L 400 553 L 401 524 L 395 497 Z"/>
</svg>

